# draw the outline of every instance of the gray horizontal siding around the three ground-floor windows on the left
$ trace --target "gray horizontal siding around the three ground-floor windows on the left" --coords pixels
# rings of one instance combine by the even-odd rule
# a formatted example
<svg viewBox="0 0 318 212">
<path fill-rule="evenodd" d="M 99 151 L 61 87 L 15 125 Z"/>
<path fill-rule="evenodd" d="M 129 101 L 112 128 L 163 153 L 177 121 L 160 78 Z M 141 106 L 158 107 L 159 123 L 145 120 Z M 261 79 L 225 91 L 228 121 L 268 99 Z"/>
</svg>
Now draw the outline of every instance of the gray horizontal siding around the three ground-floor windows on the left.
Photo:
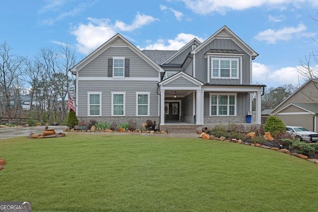
<svg viewBox="0 0 318 212">
<path fill-rule="evenodd" d="M 78 115 L 87 116 L 87 92 L 102 92 L 102 116 L 111 116 L 111 92 L 126 92 L 126 116 L 136 115 L 136 92 L 150 92 L 150 116 L 158 116 L 155 81 L 84 81 L 78 84 Z"/>
</svg>

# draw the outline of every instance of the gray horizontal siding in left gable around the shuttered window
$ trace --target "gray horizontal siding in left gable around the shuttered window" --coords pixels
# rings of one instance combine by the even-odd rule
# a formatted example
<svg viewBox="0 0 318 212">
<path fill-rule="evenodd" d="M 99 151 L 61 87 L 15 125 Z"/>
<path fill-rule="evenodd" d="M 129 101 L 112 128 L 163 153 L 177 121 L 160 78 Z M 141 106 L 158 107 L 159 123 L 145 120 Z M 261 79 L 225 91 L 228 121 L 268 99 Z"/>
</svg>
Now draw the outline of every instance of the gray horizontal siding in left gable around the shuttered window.
<svg viewBox="0 0 318 212">
<path fill-rule="evenodd" d="M 128 47 L 110 47 L 79 71 L 81 77 L 107 77 L 108 58 L 130 59 L 130 77 L 158 77 L 158 71 Z"/>
</svg>

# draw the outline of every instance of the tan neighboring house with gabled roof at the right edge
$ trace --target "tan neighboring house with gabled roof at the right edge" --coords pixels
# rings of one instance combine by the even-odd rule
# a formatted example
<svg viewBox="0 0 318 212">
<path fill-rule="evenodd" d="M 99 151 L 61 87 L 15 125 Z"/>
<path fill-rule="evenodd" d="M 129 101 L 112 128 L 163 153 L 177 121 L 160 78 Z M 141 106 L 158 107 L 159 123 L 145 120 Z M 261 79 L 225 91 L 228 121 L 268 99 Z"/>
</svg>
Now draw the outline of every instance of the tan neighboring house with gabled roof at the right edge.
<svg viewBox="0 0 318 212">
<path fill-rule="evenodd" d="M 269 114 L 282 119 L 285 125 L 318 132 L 318 82 L 308 80 Z"/>
</svg>

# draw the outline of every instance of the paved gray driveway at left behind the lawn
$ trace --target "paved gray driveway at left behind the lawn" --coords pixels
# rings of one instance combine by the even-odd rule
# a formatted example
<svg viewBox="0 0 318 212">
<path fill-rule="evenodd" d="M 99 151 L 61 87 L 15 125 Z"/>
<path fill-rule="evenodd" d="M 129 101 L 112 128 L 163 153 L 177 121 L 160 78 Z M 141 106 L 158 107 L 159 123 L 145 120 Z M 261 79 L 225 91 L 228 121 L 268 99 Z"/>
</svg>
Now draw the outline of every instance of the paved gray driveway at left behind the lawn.
<svg viewBox="0 0 318 212">
<path fill-rule="evenodd" d="M 49 129 L 54 129 L 56 133 L 62 133 L 65 128 L 67 128 L 67 126 L 49 126 Z M 41 134 L 43 131 L 44 126 L 0 128 L 0 140 L 19 136 L 28 136 L 31 133 Z"/>
</svg>

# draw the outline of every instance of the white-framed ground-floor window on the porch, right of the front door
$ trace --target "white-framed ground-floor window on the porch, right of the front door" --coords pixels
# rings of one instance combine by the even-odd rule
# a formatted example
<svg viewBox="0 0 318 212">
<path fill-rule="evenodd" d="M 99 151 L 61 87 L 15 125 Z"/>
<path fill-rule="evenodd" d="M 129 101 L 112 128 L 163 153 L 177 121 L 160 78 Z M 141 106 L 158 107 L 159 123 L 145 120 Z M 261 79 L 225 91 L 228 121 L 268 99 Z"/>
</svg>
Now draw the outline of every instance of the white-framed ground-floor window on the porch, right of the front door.
<svg viewBox="0 0 318 212">
<path fill-rule="evenodd" d="M 210 94 L 210 116 L 235 116 L 236 94 Z"/>
</svg>

